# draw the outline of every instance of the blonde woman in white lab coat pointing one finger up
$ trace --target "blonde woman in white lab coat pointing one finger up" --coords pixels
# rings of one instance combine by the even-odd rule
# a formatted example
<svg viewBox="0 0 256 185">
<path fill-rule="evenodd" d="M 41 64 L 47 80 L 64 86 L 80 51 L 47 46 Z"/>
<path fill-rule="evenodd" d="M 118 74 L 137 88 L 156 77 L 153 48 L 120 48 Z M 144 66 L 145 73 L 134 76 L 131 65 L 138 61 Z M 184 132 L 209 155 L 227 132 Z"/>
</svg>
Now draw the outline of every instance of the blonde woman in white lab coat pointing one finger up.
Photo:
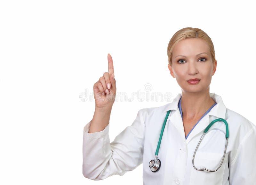
<svg viewBox="0 0 256 185">
<path fill-rule="evenodd" d="M 209 92 L 217 67 L 210 37 L 201 29 L 183 28 L 173 35 L 167 54 L 168 68 L 182 93 L 176 96 L 176 101 L 164 106 L 140 109 L 132 125 L 111 143 L 109 118 L 116 80 L 108 54 L 108 73 L 93 87 L 94 116 L 84 127 L 84 177 L 101 180 L 113 174 L 124 175 L 143 163 L 146 185 L 255 184 L 256 126 L 227 109 L 221 96 Z M 226 150 L 226 124 L 217 121 L 205 134 L 194 156 L 205 128 L 218 118 L 228 123 Z M 155 153 L 164 121 L 161 147 Z M 213 172 L 200 170 L 204 168 Z"/>
</svg>

